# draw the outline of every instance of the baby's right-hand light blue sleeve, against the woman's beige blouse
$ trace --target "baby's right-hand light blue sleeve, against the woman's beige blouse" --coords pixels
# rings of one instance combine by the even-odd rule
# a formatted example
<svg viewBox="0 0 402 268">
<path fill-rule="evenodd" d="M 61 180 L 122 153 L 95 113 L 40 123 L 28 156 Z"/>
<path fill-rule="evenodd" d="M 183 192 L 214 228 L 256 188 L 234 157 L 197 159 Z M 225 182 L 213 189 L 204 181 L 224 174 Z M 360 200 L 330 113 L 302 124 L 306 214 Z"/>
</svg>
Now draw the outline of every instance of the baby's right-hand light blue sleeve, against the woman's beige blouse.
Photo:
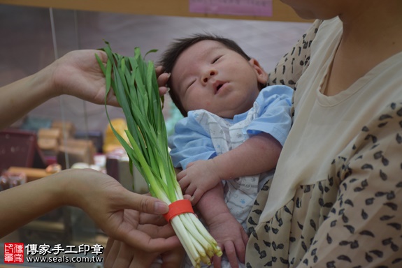
<svg viewBox="0 0 402 268">
<path fill-rule="evenodd" d="M 261 90 L 257 97 L 257 117 L 245 132 L 257 135 L 261 132 L 271 134 L 280 144 L 285 143 L 292 126 L 292 95 L 294 90 L 287 86 L 275 85 Z"/>
</svg>

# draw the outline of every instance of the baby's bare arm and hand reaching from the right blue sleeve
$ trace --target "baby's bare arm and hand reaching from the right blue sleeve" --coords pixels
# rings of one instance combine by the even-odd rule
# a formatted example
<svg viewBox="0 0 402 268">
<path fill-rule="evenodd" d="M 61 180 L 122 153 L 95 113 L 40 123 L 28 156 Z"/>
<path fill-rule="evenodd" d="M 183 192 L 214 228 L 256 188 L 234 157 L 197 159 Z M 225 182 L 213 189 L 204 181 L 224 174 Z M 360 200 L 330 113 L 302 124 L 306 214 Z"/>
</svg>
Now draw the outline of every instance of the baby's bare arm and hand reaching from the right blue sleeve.
<svg viewBox="0 0 402 268">
<path fill-rule="evenodd" d="M 275 168 L 282 145 L 267 133 L 253 135 L 243 144 L 206 161 L 195 161 L 178 174 L 181 188 L 196 204 L 221 180 L 236 179 Z"/>
</svg>

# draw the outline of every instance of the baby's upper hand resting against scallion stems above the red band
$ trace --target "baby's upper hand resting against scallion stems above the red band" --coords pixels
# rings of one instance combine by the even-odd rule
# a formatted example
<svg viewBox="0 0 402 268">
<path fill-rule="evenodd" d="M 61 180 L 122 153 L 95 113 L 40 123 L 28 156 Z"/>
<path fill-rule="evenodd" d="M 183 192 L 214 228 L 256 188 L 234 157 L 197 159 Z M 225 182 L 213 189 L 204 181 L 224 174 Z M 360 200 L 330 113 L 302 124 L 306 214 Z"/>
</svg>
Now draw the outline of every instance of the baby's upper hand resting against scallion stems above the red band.
<svg viewBox="0 0 402 268">
<path fill-rule="evenodd" d="M 180 187 L 186 195 L 192 195 L 193 205 L 199 202 L 206 191 L 220 183 L 217 168 L 213 159 L 199 160 L 189 163 L 185 170 L 178 173 Z"/>
</svg>

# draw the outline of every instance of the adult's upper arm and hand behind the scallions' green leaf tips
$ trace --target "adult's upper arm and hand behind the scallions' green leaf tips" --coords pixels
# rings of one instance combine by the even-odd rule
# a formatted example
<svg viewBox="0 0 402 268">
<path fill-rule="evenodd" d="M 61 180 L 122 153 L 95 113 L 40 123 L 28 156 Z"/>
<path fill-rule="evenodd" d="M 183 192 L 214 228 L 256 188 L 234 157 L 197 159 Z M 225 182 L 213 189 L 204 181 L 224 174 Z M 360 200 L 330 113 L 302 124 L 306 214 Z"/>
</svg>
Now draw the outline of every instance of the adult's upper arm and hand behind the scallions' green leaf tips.
<svg viewBox="0 0 402 268">
<path fill-rule="evenodd" d="M 10 126 L 41 103 L 62 94 L 92 103 L 104 103 L 106 80 L 95 54 L 103 62 L 107 61 L 106 53 L 100 50 L 76 50 L 34 75 L 1 87 L 0 129 Z M 118 105 L 113 94 L 108 96 L 108 104 Z"/>
</svg>

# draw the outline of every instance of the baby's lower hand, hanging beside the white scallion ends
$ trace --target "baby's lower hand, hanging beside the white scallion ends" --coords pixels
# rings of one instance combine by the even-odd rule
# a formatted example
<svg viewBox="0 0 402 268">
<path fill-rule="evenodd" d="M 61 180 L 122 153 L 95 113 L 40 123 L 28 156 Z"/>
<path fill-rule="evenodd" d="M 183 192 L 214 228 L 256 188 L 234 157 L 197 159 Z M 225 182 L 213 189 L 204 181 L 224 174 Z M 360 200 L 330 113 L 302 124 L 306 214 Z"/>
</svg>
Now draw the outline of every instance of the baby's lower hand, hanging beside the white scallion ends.
<svg viewBox="0 0 402 268">
<path fill-rule="evenodd" d="M 217 241 L 218 246 L 225 252 L 232 268 L 238 267 L 238 262 L 245 262 L 245 247 L 248 236 L 240 223 L 230 213 L 219 214 L 208 225 L 210 234 Z M 214 256 L 214 267 L 221 262 L 221 258 Z"/>
</svg>

